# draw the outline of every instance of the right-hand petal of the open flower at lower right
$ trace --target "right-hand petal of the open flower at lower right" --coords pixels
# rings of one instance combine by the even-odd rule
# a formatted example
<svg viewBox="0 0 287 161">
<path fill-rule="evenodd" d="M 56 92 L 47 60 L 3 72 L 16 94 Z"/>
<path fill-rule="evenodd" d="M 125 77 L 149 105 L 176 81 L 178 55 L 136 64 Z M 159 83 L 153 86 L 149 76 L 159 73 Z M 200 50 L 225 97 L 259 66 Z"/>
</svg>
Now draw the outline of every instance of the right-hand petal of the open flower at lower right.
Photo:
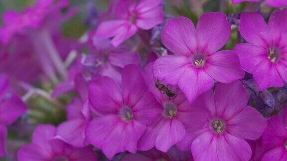
<svg viewBox="0 0 287 161">
<path fill-rule="evenodd" d="M 253 107 L 247 106 L 227 121 L 227 131 L 239 138 L 256 140 L 261 137 L 267 120 Z"/>
</svg>

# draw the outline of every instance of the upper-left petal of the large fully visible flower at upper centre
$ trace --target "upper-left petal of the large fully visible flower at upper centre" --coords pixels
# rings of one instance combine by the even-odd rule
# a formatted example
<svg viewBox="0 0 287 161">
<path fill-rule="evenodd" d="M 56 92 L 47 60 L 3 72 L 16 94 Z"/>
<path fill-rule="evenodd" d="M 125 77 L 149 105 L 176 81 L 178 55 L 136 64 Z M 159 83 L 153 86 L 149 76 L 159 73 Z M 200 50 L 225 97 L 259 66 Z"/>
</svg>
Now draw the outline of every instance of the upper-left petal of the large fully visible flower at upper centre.
<svg viewBox="0 0 287 161">
<path fill-rule="evenodd" d="M 176 55 L 190 55 L 197 49 L 196 30 L 189 18 L 177 17 L 167 21 L 161 31 L 161 41 Z"/>
</svg>

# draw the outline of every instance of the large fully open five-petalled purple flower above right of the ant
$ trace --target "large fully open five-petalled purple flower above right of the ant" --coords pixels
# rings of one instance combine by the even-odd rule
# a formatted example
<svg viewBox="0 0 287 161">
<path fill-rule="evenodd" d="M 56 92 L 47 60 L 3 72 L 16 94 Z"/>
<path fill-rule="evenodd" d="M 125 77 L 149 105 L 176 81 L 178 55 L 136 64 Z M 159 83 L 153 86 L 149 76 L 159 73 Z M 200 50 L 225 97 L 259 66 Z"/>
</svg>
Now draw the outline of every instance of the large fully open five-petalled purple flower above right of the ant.
<svg viewBox="0 0 287 161">
<path fill-rule="evenodd" d="M 204 13 L 196 29 L 186 17 L 169 20 L 161 40 L 175 55 L 158 58 L 154 75 L 167 84 L 178 85 L 190 102 L 212 88 L 214 80 L 229 83 L 243 78 L 238 56 L 230 50 L 217 52 L 228 41 L 230 32 L 221 12 Z"/>
</svg>

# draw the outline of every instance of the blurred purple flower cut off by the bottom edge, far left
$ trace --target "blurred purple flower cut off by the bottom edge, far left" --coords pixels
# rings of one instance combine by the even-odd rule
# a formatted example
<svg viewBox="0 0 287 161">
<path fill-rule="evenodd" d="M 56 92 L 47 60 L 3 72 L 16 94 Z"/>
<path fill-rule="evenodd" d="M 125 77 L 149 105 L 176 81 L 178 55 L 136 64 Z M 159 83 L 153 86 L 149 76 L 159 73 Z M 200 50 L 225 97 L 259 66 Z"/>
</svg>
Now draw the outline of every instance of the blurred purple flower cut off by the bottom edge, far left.
<svg viewBox="0 0 287 161">
<path fill-rule="evenodd" d="M 38 125 L 33 133 L 32 143 L 18 151 L 18 161 L 97 161 L 97 156 L 90 147 L 74 148 L 56 139 L 56 130 L 52 125 Z"/>
</svg>

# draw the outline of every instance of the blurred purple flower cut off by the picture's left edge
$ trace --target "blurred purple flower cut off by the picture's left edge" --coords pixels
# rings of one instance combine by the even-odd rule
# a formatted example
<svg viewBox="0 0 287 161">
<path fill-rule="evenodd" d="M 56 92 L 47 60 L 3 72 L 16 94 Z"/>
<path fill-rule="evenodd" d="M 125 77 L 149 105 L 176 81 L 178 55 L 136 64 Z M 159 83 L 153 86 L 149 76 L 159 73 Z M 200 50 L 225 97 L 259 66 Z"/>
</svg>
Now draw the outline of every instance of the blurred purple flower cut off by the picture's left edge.
<svg viewBox="0 0 287 161">
<path fill-rule="evenodd" d="M 26 110 L 24 102 L 11 89 L 9 79 L 0 75 L 0 157 L 6 156 L 6 126 L 11 125 Z"/>
</svg>

